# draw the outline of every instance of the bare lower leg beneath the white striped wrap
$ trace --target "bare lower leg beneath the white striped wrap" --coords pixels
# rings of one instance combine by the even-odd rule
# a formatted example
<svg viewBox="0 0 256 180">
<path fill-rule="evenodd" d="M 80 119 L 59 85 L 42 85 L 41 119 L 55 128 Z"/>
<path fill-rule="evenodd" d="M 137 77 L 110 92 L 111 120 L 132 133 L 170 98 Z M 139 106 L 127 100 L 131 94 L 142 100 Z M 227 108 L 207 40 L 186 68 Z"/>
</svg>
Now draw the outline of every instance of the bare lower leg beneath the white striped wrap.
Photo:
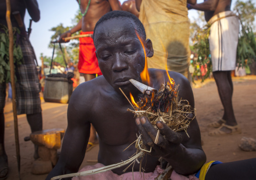
<svg viewBox="0 0 256 180">
<path fill-rule="evenodd" d="M 213 72 L 214 79 L 216 81 L 219 96 L 224 107 L 223 119 L 226 120 L 226 124 L 230 126 L 237 125 L 233 107 L 232 107 L 232 94 L 233 83 L 231 79 L 230 71 L 216 71 Z"/>
</svg>

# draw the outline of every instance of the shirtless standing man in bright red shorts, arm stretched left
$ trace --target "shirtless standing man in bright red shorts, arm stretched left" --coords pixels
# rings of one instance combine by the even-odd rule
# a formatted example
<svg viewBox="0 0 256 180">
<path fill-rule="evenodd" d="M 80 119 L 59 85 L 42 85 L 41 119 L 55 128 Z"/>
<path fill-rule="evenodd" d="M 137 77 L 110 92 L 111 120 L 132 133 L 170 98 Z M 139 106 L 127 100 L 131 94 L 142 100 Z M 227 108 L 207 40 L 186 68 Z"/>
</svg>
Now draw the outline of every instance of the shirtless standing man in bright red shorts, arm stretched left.
<svg viewBox="0 0 256 180">
<path fill-rule="evenodd" d="M 92 35 L 95 24 L 103 15 L 111 10 L 121 10 L 118 0 L 77 0 L 77 2 L 79 3 L 82 19 L 77 26 L 60 35 L 59 42 L 65 42 L 63 38 L 70 37 L 73 33 L 80 30 L 82 30 L 81 35 Z M 98 66 L 93 39 L 91 37 L 85 37 L 80 38 L 79 41 L 78 70 L 84 75 L 85 81 L 90 81 L 96 77 L 96 74 L 102 75 Z M 90 150 L 95 143 L 97 143 L 96 130 L 91 126 L 91 135 L 87 150 Z"/>
</svg>

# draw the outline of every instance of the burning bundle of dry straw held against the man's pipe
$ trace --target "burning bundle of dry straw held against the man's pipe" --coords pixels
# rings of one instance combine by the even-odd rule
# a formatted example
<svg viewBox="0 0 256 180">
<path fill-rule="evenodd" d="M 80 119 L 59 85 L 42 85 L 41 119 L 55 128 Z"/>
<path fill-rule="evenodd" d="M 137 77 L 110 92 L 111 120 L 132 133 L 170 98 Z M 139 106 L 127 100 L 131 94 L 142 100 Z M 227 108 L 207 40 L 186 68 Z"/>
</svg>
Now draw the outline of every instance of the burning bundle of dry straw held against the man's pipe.
<svg viewBox="0 0 256 180">
<path fill-rule="evenodd" d="M 193 109 L 187 100 L 178 100 L 178 85 L 174 83 L 174 80 L 162 84 L 158 92 L 151 87 L 145 88 L 144 84 L 133 79 L 130 81 L 143 95 L 140 96 L 139 102 L 134 106 L 135 110 L 127 109 L 128 111 L 133 112 L 137 117 L 146 116 L 156 129 L 156 122 L 162 121 L 175 132 L 182 130 L 186 132 L 191 120 L 196 116 L 196 109 Z M 191 113 L 194 114 L 193 117 L 189 116 Z M 158 141 L 159 134 L 160 131 L 158 130 L 155 143 Z M 141 135 L 136 142 L 136 148 L 151 152 L 151 149 L 145 149 Z"/>
</svg>

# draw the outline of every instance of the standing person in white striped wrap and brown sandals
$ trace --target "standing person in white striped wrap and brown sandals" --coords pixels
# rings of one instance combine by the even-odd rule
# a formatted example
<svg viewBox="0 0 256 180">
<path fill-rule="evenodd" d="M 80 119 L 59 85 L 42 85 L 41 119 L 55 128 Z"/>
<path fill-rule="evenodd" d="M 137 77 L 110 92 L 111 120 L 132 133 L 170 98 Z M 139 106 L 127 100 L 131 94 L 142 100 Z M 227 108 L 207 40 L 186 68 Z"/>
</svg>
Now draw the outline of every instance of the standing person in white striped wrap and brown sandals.
<svg viewBox="0 0 256 180">
<path fill-rule="evenodd" d="M 209 45 L 212 56 L 213 77 L 224 107 L 222 119 L 210 123 L 217 129 L 209 132 L 211 136 L 241 133 L 236 122 L 232 94 L 231 71 L 236 67 L 236 48 L 238 43 L 238 17 L 230 11 L 231 0 L 205 0 L 204 3 L 190 5 L 189 9 L 205 12 L 205 20 L 211 25 Z"/>
</svg>

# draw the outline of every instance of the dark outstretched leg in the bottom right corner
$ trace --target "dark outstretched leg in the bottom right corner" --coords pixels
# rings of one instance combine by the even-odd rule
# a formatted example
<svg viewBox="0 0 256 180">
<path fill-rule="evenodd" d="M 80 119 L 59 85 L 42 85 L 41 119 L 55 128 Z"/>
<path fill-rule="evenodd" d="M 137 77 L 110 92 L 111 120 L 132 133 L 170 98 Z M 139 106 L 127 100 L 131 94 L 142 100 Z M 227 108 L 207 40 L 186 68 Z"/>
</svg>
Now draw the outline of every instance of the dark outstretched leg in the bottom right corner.
<svg viewBox="0 0 256 180">
<path fill-rule="evenodd" d="M 215 164 L 208 170 L 205 179 L 255 179 L 256 158 Z"/>
</svg>

